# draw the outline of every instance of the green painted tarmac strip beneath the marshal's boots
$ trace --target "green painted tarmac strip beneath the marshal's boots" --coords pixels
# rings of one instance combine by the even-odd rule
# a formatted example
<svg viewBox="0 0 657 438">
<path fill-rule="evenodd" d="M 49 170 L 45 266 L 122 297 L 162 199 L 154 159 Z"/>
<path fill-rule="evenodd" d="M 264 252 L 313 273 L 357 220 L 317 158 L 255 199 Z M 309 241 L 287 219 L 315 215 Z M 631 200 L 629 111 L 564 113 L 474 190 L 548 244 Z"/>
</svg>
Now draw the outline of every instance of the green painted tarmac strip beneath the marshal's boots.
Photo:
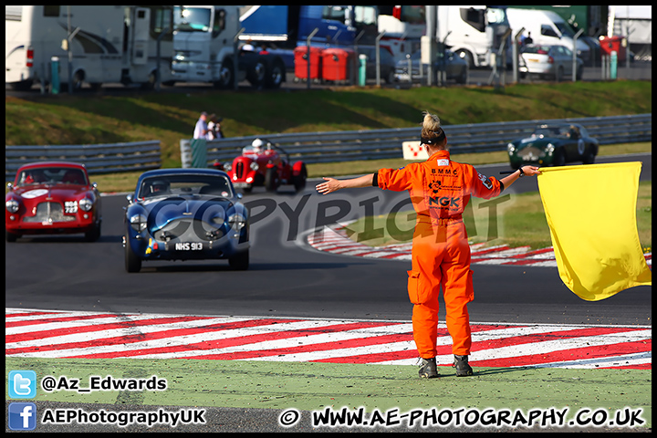
<svg viewBox="0 0 657 438">
<path fill-rule="evenodd" d="M 10 370 L 36 371 L 36 398 L 29 401 L 171 405 L 250 409 L 321 411 L 343 407 L 366 412 L 458 410 L 461 408 L 529 412 L 568 409 L 571 421 L 580 412 L 592 421 L 597 411 L 613 420 L 635 413 L 635 428 L 652 428 L 652 370 L 563 370 L 535 368 L 478 368 L 474 376 L 457 378 L 451 367 L 439 367 L 438 379 L 419 379 L 417 367 L 270 362 L 259 360 L 148 360 L 148 359 L 32 359 L 5 358 Z M 42 380 L 52 376 L 60 386 L 47 392 Z M 166 380 L 163 391 L 66 390 L 64 379 L 79 380 L 89 389 L 90 376 L 99 381 L 140 379 L 146 387 Z M 5 393 L 10 400 L 8 388 Z M 620 412 L 620 413 L 619 413 Z M 639 413 L 637 413 L 639 412 Z M 597 419 L 605 416 L 597 414 Z"/>
</svg>

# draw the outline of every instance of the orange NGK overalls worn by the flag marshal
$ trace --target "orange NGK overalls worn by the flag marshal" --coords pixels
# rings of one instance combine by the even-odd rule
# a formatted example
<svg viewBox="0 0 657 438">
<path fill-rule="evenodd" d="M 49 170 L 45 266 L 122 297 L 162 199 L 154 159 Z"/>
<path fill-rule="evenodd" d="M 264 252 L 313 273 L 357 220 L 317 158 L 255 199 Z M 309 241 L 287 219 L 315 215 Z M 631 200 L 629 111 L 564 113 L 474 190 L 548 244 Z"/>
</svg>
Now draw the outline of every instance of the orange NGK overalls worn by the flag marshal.
<svg viewBox="0 0 657 438">
<path fill-rule="evenodd" d="M 462 214 L 470 195 L 489 199 L 504 186 L 476 172 L 470 164 L 451 161 L 448 151 L 437 151 L 426 162 L 413 162 L 401 169 L 381 169 L 376 176 L 381 189 L 408 190 L 417 214 L 408 292 L 414 305 L 413 339 L 420 356 L 436 356 L 441 286 L 452 351 L 470 354 L 467 303 L 473 300 L 474 290 Z"/>
</svg>

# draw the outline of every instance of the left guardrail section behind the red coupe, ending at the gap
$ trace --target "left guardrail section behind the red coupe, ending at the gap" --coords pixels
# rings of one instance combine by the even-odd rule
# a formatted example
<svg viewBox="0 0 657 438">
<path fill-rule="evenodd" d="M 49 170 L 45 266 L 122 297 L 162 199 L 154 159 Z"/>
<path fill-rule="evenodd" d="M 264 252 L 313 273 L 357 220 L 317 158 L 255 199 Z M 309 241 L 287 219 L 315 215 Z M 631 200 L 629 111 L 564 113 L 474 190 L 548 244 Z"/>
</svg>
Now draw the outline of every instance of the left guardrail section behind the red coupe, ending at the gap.
<svg viewBox="0 0 657 438">
<path fill-rule="evenodd" d="M 5 145 L 5 181 L 13 180 L 18 168 L 27 162 L 51 160 L 80 162 L 89 174 L 135 172 L 160 169 L 162 152 L 159 140 L 77 146 Z"/>
</svg>

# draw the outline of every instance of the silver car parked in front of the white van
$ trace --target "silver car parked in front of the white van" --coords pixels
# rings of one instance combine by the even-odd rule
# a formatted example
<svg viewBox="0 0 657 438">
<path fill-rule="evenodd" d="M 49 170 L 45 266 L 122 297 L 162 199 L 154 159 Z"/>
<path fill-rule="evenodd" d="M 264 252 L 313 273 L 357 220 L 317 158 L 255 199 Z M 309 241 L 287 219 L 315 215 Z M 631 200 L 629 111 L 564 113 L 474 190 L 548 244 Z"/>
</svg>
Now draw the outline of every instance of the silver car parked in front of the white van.
<svg viewBox="0 0 657 438">
<path fill-rule="evenodd" d="M 584 71 L 584 61 L 576 60 L 575 77 L 579 80 Z M 573 53 L 564 46 L 543 46 L 530 44 L 523 47 L 520 53 L 521 77 L 527 74 L 537 77 L 554 78 L 556 81 L 572 77 Z"/>
</svg>

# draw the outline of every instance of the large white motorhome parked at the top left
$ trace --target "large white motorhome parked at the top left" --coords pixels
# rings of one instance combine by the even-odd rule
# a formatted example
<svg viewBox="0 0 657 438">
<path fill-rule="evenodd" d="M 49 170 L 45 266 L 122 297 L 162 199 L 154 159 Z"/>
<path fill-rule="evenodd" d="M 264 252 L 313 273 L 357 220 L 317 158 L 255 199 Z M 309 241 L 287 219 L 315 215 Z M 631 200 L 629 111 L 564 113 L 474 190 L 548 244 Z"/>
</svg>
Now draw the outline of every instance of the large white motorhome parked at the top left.
<svg viewBox="0 0 657 438">
<path fill-rule="evenodd" d="M 50 83 L 52 57 L 58 57 L 59 80 L 68 85 L 68 50 L 74 88 L 112 82 L 151 87 L 158 67 L 161 80 L 168 80 L 172 10 L 166 5 L 6 5 L 5 83 L 14 89 Z"/>
</svg>

